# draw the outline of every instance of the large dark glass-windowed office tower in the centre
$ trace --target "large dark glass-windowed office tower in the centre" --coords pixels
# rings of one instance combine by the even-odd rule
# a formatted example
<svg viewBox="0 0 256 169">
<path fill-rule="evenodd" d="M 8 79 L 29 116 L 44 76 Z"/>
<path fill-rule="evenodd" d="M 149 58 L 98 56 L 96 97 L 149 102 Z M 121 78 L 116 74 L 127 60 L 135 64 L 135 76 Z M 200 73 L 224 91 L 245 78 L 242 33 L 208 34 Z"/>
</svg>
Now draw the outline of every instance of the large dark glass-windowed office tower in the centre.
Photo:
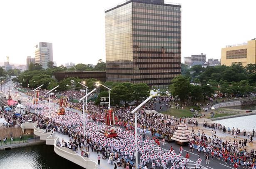
<svg viewBox="0 0 256 169">
<path fill-rule="evenodd" d="M 181 74 L 181 5 L 128 0 L 105 11 L 107 81 L 167 86 Z"/>
</svg>

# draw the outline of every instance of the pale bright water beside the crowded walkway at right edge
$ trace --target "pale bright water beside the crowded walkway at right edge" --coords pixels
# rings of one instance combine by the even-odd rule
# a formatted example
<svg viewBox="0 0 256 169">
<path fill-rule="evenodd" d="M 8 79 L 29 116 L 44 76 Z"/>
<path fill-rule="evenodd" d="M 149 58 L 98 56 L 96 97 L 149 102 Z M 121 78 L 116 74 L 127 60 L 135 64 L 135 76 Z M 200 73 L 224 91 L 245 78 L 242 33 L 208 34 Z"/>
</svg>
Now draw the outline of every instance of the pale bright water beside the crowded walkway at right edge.
<svg viewBox="0 0 256 169">
<path fill-rule="evenodd" d="M 226 118 L 223 120 L 216 120 L 214 123 L 220 123 L 226 128 L 240 128 L 240 130 L 252 131 L 252 129 L 256 130 L 256 115 L 251 116 L 242 116 L 235 118 Z"/>
</svg>

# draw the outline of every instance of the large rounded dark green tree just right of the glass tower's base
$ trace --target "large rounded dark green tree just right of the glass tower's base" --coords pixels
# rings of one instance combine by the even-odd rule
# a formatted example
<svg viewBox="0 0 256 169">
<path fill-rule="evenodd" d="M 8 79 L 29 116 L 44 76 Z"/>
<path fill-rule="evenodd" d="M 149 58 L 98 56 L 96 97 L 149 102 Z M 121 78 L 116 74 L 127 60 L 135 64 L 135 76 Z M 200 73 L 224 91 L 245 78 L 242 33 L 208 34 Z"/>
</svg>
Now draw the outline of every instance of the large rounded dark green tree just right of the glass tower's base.
<svg viewBox="0 0 256 169">
<path fill-rule="evenodd" d="M 169 86 L 172 96 L 179 96 L 181 103 L 188 99 L 190 92 L 189 80 L 184 76 L 176 76 Z"/>
</svg>

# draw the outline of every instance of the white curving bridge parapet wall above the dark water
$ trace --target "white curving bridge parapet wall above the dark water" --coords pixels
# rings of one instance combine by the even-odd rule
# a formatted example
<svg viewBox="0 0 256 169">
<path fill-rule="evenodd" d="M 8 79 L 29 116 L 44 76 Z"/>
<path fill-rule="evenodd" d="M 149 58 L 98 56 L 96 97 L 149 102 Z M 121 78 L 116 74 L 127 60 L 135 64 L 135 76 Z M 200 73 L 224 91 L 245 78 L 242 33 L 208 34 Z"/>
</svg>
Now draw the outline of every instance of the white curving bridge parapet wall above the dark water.
<svg viewBox="0 0 256 169">
<path fill-rule="evenodd" d="M 22 123 L 21 124 L 22 131 L 24 132 L 25 129 L 34 129 L 34 134 L 40 137 L 40 140 L 45 140 L 46 145 L 53 145 L 54 152 L 71 162 L 74 162 L 85 169 L 98 169 L 98 165 L 96 162 L 92 161 L 87 157 L 82 157 L 78 155 L 76 152 L 65 148 L 65 147 L 58 147 L 57 143 L 60 141 L 58 136 L 54 134 L 51 135 L 51 132 L 46 132 L 46 130 L 42 130 L 37 128 L 37 121 L 35 123 Z"/>
</svg>

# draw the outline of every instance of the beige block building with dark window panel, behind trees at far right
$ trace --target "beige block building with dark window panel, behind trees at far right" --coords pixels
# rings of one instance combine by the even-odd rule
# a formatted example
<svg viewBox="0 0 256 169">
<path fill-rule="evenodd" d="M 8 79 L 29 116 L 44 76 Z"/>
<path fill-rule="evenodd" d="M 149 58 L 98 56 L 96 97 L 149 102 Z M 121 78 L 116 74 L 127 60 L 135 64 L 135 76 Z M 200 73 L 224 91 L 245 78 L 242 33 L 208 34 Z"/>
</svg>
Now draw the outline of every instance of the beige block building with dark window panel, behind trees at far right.
<svg viewBox="0 0 256 169">
<path fill-rule="evenodd" d="M 241 62 L 243 66 L 256 63 L 256 40 L 221 49 L 221 65 L 231 66 Z"/>
</svg>

